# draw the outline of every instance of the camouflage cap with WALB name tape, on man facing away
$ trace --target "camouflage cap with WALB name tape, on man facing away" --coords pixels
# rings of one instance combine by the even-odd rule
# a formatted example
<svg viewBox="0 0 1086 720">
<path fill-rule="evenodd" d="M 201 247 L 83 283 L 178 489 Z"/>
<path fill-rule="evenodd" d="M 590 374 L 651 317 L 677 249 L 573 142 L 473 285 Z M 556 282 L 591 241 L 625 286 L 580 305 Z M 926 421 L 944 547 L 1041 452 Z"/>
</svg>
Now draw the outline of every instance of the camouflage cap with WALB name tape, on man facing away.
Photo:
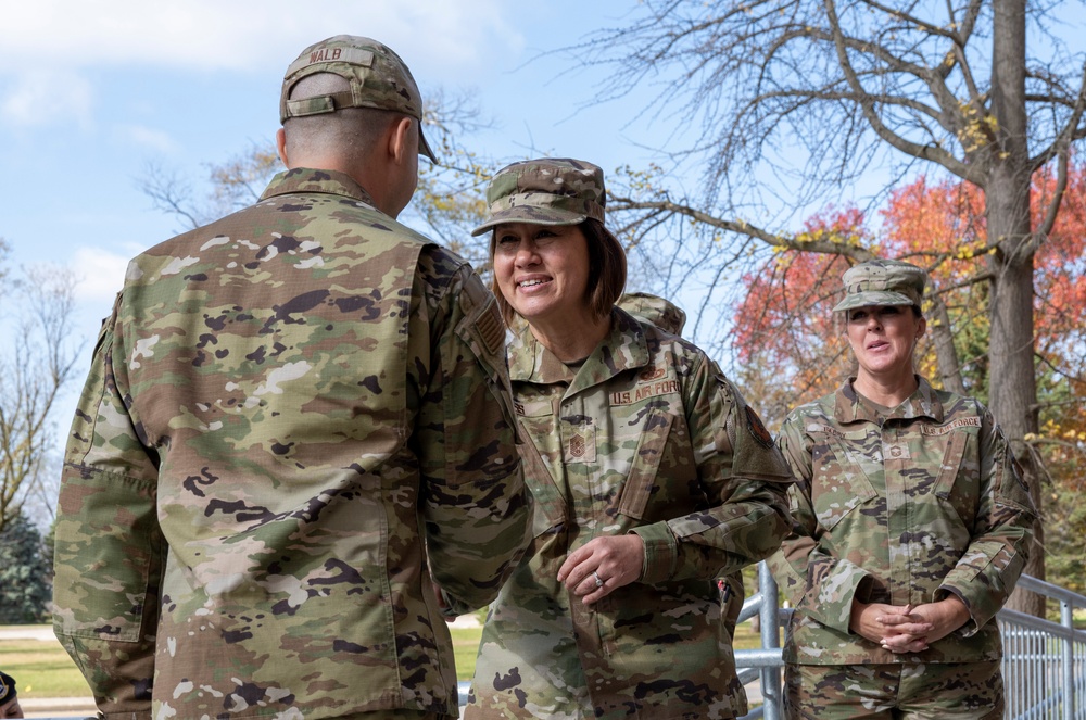
<svg viewBox="0 0 1086 720">
<path fill-rule="evenodd" d="M 291 99 L 299 80 L 317 73 L 333 73 L 351 84 L 350 91 Z M 377 40 L 337 35 L 302 51 L 282 78 L 279 122 L 333 113 L 341 108 L 393 110 L 418 121 L 418 152 L 438 162 L 422 135 L 422 96 L 407 65 L 388 46 Z"/>
</svg>

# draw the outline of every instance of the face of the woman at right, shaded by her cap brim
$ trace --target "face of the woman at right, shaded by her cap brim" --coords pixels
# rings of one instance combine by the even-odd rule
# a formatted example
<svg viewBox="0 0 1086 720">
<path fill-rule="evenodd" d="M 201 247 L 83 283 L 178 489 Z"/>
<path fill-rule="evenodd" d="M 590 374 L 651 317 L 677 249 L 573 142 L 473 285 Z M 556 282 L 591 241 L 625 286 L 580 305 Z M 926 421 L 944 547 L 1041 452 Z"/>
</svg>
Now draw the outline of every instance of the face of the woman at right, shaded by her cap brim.
<svg viewBox="0 0 1086 720">
<path fill-rule="evenodd" d="M 864 305 L 846 311 L 848 343 L 859 364 L 858 381 L 912 382 L 912 353 L 927 327 L 908 305 Z"/>
</svg>

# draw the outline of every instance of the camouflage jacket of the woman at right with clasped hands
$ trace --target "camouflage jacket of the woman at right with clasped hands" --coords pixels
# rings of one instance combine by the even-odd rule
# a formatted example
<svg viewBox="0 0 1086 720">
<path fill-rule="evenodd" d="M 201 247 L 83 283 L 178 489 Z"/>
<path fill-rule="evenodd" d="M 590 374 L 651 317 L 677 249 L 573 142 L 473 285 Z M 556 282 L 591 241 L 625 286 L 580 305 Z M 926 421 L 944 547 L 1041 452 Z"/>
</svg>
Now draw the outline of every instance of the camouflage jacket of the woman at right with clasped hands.
<svg viewBox="0 0 1086 720">
<path fill-rule="evenodd" d="M 919 381 L 888 415 L 848 382 L 784 421 L 778 443 L 798 482 L 792 534 L 770 565 L 796 608 L 788 662 L 1001 655 L 990 620 L 1025 565 L 1033 503 L 987 408 Z M 920 605 L 951 593 L 970 620 L 923 653 L 891 653 L 849 632 L 854 597 Z"/>
</svg>

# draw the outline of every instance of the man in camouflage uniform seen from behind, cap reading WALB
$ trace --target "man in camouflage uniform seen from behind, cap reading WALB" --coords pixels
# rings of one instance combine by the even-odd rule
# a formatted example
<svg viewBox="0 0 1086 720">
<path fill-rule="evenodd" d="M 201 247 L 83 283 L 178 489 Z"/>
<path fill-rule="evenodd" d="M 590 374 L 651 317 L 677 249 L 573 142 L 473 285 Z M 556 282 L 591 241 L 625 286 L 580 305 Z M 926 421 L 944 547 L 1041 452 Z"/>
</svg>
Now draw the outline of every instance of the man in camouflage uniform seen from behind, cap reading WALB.
<svg viewBox="0 0 1086 720">
<path fill-rule="evenodd" d="M 497 305 L 395 220 L 407 67 L 333 37 L 280 109 L 290 169 L 132 261 L 76 410 L 54 628 L 104 717 L 456 717 L 444 615 L 530 541 Z"/>
</svg>

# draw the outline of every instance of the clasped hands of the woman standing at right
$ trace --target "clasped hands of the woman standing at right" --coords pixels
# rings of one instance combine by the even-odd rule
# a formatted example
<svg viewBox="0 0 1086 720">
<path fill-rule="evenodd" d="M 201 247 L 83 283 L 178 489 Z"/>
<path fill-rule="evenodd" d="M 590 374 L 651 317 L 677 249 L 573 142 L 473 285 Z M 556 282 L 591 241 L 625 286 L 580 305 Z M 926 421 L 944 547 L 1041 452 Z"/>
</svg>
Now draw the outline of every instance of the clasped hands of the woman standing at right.
<svg viewBox="0 0 1086 720">
<path fill-rule="evenodd" d="M 853 601 L 849 629 L 891 653 L 921 653 L 969 620 L 956 595 L 923 605 L 885 605 Z"/>
</svg>

